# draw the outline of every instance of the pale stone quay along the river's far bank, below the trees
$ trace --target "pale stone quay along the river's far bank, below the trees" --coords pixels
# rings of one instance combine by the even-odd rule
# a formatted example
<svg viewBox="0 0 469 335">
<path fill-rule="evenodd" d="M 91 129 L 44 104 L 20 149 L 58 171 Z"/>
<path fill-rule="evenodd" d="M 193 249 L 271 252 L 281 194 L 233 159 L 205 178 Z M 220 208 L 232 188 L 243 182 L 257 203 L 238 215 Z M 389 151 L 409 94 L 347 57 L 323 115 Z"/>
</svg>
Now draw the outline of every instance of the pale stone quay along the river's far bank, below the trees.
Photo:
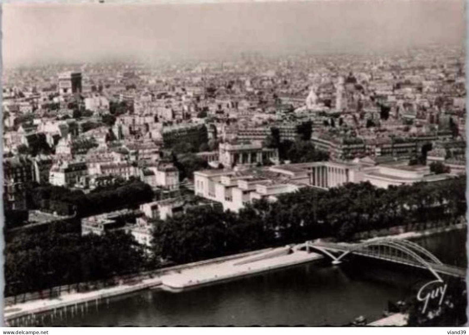
<svg viewBox="0 0 469 335">
<path fill-rule="evenodd" d="M 451 227 L 436 228 L 428 231 L 407 232 L 389 238 L 416 238 L 418 236 L 432 235 L 454 229 L 465 228 L 465 224 Z M 35 315 L 45 312 L 59 314 L 61 310 L 76 310 L 81 305 L 99 304 L 106 299 L 118 297 L 145 289 L 166 289 L 168 291 L 181 291 L 199 286 L 210 285 L 216 282 L 235 280 L 252 274 L 267 272 L 287 266 L 295 266 L 316 259 L 323 259 L 322 255 L 295 250 L 294 246 L 282 248 L 269 248 L 236 254 L 218 259 L 172 266 L 158 269 L 145 274 L 136 275 L 138 283 L 135 285 L 121 284 L 111 288 L 98 289 L 84 293 L 68 293 L 58 298 L 31 300 L 10 305 L 4 309 L 5 320 L 18 326 L 35 320 Z M 153 278 L 148 278 L 152 276 Z"/>
</svg>

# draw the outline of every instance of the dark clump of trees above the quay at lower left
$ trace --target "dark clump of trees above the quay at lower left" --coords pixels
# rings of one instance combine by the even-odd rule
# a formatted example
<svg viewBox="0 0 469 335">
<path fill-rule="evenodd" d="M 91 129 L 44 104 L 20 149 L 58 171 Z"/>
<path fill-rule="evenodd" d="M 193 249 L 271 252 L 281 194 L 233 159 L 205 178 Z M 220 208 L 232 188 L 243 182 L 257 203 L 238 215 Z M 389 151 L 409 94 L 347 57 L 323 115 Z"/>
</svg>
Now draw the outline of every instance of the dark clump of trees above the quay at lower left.
<svg viewBox="0 0 469 335">
<path fill-rule="evenodd" d="M 57 223 L 6 243 L 5 296 L 136 273 L 144 267 L 143 248 L 131 235 L 116 231 L 81 236 L 63 230 Z"/>
</svg>

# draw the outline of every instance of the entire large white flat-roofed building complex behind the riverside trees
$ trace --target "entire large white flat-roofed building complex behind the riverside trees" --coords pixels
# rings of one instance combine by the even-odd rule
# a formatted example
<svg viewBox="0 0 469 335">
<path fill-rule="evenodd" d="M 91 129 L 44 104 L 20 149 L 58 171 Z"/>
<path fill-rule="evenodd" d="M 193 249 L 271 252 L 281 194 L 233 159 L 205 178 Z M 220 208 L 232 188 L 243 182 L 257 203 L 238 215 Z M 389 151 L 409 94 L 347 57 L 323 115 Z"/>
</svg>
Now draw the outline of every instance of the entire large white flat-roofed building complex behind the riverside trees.
<svg viewBox="0 0 469 335">
<path fill-rule="evenodd" d="M 217 201 L 224 210 L 238 212 L 254 199 L 275 201 L 284 193 L 302 187 L 327 190 L 346 183 L 370 182 L 380 188 L 444 180 L 448 175 L 433 175 L 428 167 L 402 164 L 311 162 L 246 169 L 218 169 L 194 173 L 197 196 Z"/>
</svg>

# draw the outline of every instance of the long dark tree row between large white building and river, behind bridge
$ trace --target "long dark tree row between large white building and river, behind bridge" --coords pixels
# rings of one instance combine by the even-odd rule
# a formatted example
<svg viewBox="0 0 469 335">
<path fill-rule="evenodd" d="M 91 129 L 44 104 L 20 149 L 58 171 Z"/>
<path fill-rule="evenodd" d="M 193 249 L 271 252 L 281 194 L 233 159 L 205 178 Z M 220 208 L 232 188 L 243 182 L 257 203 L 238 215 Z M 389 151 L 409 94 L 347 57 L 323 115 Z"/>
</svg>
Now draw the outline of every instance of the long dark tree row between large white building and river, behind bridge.
<svg viewBox="0 0 469 335">
<path fill-rule="evenodd" d="M 155 227 L 154 251 L 176 263 L 264 247 L 407 225 L 455 222 L 466 213 L 465 178 L 380 189 L 370 183 L 327 191 L 305 188 L 246 206 L 239 214 L 195 209 Z M 418 227 L 417 227 L 418 226 Z"/>
</svg>

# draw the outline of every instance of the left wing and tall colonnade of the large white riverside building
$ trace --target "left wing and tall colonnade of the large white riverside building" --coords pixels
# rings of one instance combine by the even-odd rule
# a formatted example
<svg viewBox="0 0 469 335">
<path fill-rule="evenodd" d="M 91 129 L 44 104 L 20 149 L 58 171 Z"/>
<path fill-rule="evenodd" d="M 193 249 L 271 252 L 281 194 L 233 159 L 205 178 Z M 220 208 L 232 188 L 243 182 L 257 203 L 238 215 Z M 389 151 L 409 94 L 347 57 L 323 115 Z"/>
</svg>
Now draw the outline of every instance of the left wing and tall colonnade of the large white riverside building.
<svg viewBox="0 0 469 335">
<path fill-rule="evenodd" d="M 257 167 L 244 170 L 206 170 L 194 173 L 196 195 L 218 201 L 237 212 L 254 199 L 276 197 L 302 187 L 327 189 L 359 182 L 360 167 L 352 164 L 313 162 Z"/>
</svg>

